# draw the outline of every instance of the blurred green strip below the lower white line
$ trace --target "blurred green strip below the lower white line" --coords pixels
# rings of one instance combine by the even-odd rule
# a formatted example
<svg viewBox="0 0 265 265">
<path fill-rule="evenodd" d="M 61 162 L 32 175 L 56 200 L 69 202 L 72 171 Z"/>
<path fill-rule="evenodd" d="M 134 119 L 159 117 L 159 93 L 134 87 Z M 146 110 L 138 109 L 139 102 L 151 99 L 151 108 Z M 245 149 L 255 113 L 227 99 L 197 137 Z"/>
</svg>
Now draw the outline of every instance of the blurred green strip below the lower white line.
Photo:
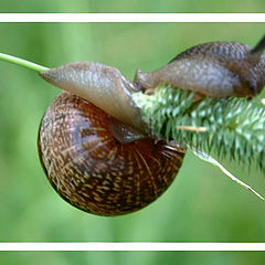
<svg viewBox="0 0 265 265">
<path fill-rule="evenodd" d="M 107 265 L 242 265 L 264 264 L 265 254 L 255 252 L 89 252 L 0 253 L 1 264 L 107 264 Z"/>
</svg>

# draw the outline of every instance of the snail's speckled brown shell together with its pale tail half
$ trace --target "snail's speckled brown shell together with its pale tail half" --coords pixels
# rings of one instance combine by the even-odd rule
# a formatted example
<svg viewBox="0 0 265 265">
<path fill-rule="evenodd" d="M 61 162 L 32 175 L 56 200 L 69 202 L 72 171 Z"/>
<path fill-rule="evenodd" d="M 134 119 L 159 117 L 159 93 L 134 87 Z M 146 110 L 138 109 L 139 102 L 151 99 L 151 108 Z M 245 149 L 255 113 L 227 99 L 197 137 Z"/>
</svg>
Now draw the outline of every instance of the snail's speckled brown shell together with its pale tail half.
<svg viewBox="0 0 265 265">
<path fill-rule="evenodd" d="M 165 192 L 186 150 L 148 136 L 131 82 L 114 67 L 88 62 L 40 75 L 72 92 L 47 108 L 38 140 L 43 169 L 64 200 L 97 215 L 119 215 Z"/>
</svg>

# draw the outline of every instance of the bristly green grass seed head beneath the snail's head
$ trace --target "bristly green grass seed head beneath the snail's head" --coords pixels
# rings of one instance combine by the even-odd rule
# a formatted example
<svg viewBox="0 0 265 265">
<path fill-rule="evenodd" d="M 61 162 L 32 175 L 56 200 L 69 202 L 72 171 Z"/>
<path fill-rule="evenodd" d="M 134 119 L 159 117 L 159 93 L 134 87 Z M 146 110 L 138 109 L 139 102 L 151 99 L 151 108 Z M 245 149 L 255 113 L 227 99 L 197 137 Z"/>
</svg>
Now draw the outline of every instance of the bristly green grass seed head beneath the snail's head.
<svg viewBox="0 0 265 265">
<path fill-rule="evenodd" d="M 261 99 L 205 97 L 194 103 L 193 96 L 166 85 L 152 95 L 135 93 L 132 98 L 157 139 L 256 165 L 265 172 L 265 106 Z"/>
</svg>

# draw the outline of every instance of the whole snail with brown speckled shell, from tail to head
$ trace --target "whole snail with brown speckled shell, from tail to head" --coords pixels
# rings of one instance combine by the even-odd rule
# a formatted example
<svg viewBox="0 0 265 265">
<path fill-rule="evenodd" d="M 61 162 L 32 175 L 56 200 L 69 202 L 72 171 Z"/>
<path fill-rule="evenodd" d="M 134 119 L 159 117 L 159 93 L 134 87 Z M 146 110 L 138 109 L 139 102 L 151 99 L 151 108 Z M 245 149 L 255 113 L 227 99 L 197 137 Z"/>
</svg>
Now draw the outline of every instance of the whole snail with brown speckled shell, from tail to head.
<svg viewBox="0 0 265 265">
<path fill-rule="evenodd" d="M 265 83 L 264 39 L 252 49 L 204 43 L 134 82 L 117 68 L 78 62 L 40 72 L 66 91 L 50 105 L 39 129 L 39 156 L 49 181 L 72 205 L 97 215 L 137 211 L 161 195 L 186 149 L 152 139 L 131 94 L 171 84 L 199 96 L 258 94 Z"/>
</svg>

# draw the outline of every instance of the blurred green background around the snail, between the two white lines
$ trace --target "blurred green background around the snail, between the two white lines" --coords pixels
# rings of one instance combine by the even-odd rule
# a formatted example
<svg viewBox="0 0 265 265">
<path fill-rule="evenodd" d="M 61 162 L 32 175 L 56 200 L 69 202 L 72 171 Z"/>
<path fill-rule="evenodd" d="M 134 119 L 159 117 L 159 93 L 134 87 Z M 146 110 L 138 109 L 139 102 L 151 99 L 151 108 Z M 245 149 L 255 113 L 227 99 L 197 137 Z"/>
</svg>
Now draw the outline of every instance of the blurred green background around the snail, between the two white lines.
<svg viewBox="0 0 265 265">
<path fill-rule="evenodd" d="M 49 67 L 100 62 L 132 78 L 137 67 L 152 71 L 189 46 L 209 41 L 255 45 L 263 34 L 262 23 L 1 23 L 0 52 Z M 169 190 L 136 213 L 99 218 L 64 202 L 49 184 L 36 150 L 40 119 L 59 93 L 33 71 L 0 62 L 1 242 L 265 242 L 264 202 L 190 153 Z M 229 161 L 225 165 L 265 194 L 264 176 Z M 136 256 L 161 264 L 170 255 L 91 253 L 78 261 L 103 262 L 105 256 L 117 264 L 123 256 Z M 187 256 L 172 255 L 176 261 Z M 33 264 L 33 254 L 19 256 Z M 54 253 L 52 258 L 70 264 L 77 257 Z M 235 259 L 250 264 L 246 257 L 230 253 L 211 254 L 205 264 L 234 264 Z"/>
</svg>

